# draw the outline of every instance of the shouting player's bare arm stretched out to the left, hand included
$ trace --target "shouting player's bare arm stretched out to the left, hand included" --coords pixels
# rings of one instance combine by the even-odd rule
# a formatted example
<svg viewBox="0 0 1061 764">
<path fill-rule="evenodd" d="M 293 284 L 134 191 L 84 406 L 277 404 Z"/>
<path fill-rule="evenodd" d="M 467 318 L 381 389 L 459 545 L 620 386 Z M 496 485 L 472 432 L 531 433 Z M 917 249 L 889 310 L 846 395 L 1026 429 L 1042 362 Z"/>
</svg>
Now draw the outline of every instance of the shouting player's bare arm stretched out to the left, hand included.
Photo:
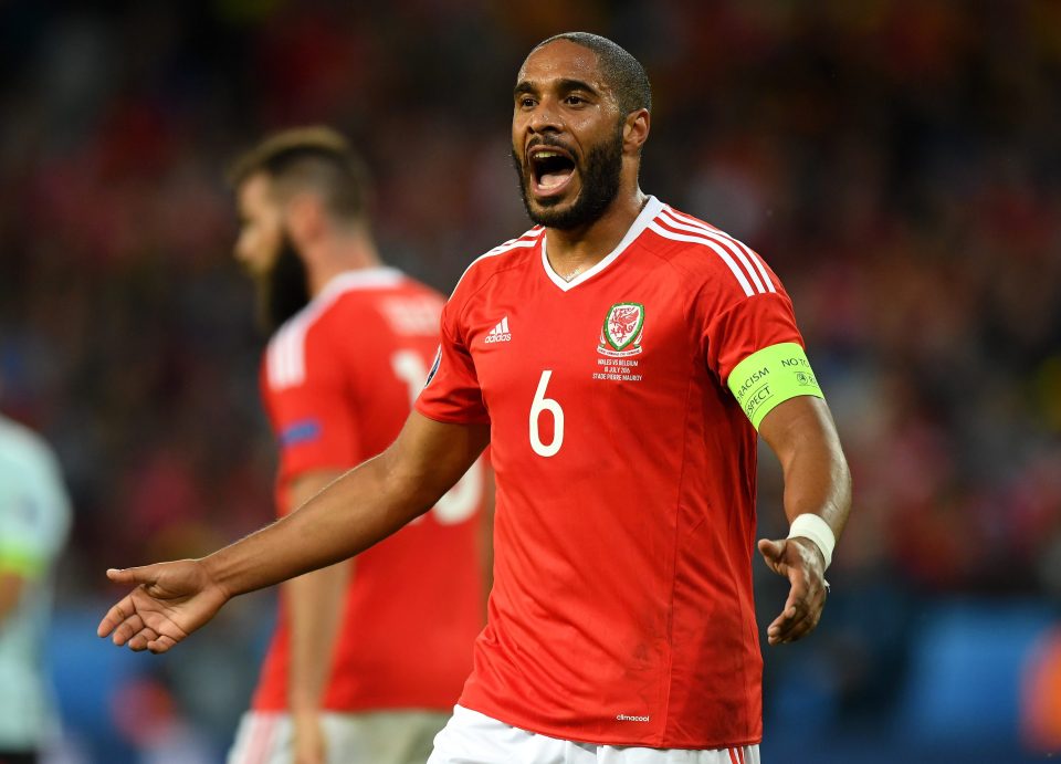
<svg viewBox="0 0 1061 764">
<path fill-rule="evenodd" d="M 427 512 L 489 440 L 486 425 L 447 425 L 413 411 L 386 451 L 283 520 L 201 559 L 108 571 L 136 588 L 107 611 L 97 634 L 165 652 L 231 597 L 350 557 Z"/>
</svg>

